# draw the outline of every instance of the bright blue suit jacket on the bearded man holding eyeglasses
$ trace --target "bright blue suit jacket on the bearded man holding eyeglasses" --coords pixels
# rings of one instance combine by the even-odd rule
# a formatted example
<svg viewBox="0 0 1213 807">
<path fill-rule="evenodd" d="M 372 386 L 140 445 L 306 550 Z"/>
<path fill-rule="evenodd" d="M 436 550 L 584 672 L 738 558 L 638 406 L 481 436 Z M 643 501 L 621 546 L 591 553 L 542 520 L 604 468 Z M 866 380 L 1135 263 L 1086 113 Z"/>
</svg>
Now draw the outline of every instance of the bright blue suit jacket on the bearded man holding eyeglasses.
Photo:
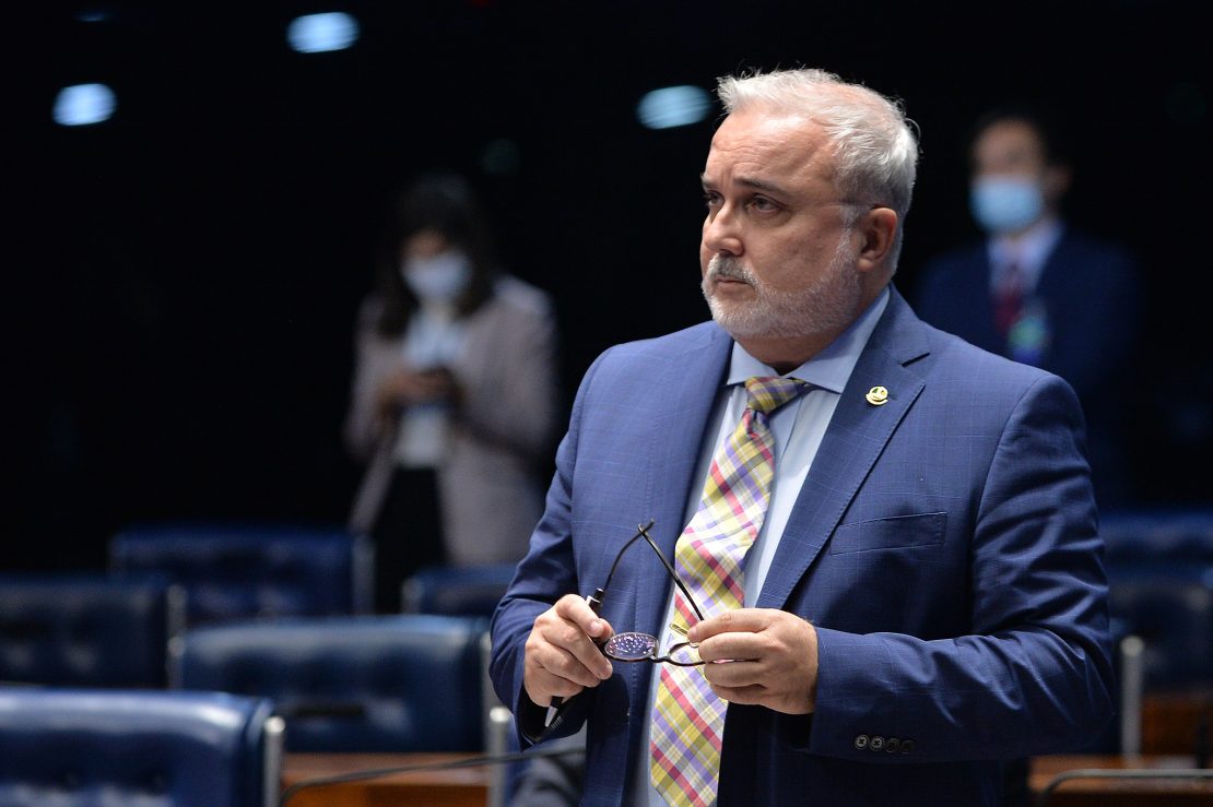
<svg viewBox="0 0 1213 807">
<path fill-rule="evenodd" d="M 535 617 L 602 585 L 650 517 L 672 557 L 730 347 L 708 322 L 613 348 L 587 372 L 494 617 L 491 674 L 524 728 L 542 714 L 522 686 Z M 865 400 L 877 384 L 884 406 Z M 816 626 L 816 711 L 730 705 L 721 805 L 996 803 L 1000 759 L 1094 738 L 1111 664 L 1082 428 L 1063 380 L 924 325 L 894 291 L 754 603 Z M 602 614 L 657 634 L 668 589 L 656 559 L 630 550 Z M 566 732 L 590 720 L 585 803 L 633 803 L 651 672 L 616 663 L 569 704 Z"/>
</svg>

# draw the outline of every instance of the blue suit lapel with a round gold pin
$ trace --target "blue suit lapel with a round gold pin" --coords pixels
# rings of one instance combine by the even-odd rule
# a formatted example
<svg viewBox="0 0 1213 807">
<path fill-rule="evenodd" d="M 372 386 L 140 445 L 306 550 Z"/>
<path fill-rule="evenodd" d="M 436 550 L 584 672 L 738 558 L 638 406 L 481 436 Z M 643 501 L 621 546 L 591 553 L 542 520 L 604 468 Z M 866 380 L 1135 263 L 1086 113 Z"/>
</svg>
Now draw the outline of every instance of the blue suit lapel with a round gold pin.
<svg viewBox="0 0 1213 807">
<path fill-rule="evenodd" d="M 923 379 L 906 365 L 927 353 L 922 322 L 896 290 L 892 290 L 888 308 L 847 382 L 792 508 L 757 607 L 784 606 L 818 557 L 898 424 L 922 393 Z M 876 406 L 866 400 L 873 387 L 888 389 L 887 404 Z"/>
</svg>

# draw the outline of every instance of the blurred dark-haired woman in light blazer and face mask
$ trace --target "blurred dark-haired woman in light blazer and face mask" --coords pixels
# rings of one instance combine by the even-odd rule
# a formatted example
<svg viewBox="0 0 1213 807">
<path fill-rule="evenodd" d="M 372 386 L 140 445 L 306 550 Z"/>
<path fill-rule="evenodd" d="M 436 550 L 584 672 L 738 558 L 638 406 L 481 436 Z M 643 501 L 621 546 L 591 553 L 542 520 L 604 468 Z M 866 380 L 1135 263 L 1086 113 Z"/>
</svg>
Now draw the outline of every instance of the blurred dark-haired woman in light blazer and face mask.
<svg viewBox="0 0 1213 807">
<path fill-rule="evenodd" d="M 400 195 L 355 328 L 346 440 L 366 471 L 352 526 L 376 546 L 376 609 L 425 565 L 517 561 L 557 431 L 548 296 L 494 263 L 457 176 Z"/>
</svg>

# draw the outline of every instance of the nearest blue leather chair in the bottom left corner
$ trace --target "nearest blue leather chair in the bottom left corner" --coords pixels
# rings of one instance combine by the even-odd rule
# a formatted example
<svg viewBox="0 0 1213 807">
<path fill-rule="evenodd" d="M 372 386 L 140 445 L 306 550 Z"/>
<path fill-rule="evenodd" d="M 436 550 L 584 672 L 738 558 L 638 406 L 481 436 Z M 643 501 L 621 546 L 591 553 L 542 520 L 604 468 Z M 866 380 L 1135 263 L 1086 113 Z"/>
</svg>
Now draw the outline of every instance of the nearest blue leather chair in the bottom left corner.
<svg viewBox="0 0 1213 807">
<path fill-rule="evenodd" d="M 281 721 L 223 693 L 0 689 L 0 805 L 278 803 Z"/>
</svg>

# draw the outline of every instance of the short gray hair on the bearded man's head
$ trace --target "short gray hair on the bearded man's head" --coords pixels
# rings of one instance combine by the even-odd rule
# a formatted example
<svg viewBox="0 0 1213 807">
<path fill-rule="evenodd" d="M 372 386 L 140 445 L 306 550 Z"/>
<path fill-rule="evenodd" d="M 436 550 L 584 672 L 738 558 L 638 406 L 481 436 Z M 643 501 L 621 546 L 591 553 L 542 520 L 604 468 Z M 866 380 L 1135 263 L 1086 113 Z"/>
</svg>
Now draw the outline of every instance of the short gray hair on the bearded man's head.
<svg viewBox="0 0 1213 807">
<path fill-rule="evenodd" d="M 758 107 L 820 126 L 836 160 L 835 185 L 844 199 L 856 202 L 847 224 L 854 225 L 869 205 L 896 212 L 890 253 L 890 265 L 896 268 L 918 162 L 913 122 L 898 102 L 814 69 L 723 76 L 717 95 L 729 114 Z"/>
</svg>

